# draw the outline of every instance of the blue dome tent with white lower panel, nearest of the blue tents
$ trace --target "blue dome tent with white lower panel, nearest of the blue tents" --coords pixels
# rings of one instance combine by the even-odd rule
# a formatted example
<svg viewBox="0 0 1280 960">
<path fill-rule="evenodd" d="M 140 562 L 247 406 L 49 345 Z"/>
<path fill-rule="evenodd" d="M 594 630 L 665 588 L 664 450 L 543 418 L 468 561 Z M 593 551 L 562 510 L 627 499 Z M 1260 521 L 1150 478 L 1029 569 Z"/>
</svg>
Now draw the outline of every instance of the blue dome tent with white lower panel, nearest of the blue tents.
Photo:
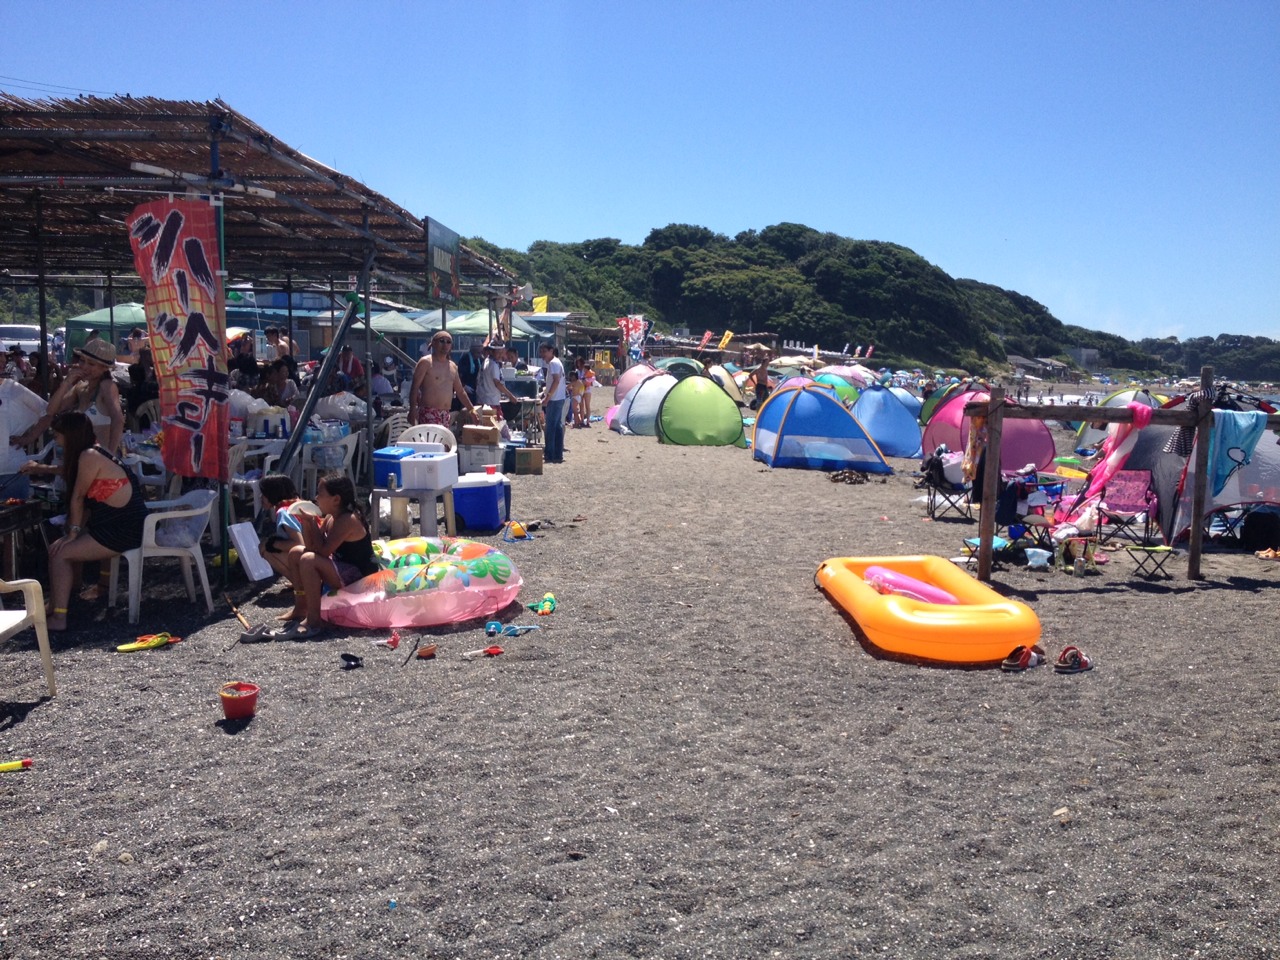
<svg viewBox="0 0 1280 960">
<path fill-rule="evenodd" d="M 756 412 L 751 447 L 751 457 L 771 467 L 893 472 L 863 425 L 824 387 L 771 394 Z"/>
</svg>

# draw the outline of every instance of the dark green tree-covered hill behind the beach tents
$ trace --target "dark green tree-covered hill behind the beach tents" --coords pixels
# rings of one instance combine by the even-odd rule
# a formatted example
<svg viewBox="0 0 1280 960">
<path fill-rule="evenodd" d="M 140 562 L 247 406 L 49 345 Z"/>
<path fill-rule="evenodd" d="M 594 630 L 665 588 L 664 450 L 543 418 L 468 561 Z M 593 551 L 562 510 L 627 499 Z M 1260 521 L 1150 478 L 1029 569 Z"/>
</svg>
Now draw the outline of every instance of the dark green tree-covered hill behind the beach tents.
<svg viewBox="0 0 1280 960">
<path fill-rule="evenodd" d="M 527 252 L 468 241 L 550 297 L 553 310 L 600 325 L 645 314 L 667 329 L 755 330 L 840 349 L 874 343 L 886 362 L 992 372 L 1005 357 L 1069 360 L 1098 351 L 1103 367 L 1190 375 L 1212 362 L 1225 376 L 1280 380 L 1280 344 L 1220 337 L 1134 343 L 1066 325 L 1014 291 L 955 279 L 911 250 L 781 223 L 736 237 L 669 224 L 639 247 L 612 238 L 539 241 Z"/>
</svg>

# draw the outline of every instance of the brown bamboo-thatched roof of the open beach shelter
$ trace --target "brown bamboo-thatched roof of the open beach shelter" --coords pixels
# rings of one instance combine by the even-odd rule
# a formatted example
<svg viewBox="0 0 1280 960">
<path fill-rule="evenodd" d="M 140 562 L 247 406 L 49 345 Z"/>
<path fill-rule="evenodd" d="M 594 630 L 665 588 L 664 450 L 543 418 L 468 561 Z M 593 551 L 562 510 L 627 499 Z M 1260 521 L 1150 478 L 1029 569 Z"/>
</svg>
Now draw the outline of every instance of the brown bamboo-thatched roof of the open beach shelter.
<svg viewBox="0 0 1280 960">
<path fill-rule="evenodd" d="M 426 221 L 221 100 L 23 100 L 0 92 L 0 268 L 132 271 L 147 193 L 221 195 L 232 276 L 375 274 L 426 285 Z M 462 244 L 463 292 L 515 276 Z"/>
</svg>

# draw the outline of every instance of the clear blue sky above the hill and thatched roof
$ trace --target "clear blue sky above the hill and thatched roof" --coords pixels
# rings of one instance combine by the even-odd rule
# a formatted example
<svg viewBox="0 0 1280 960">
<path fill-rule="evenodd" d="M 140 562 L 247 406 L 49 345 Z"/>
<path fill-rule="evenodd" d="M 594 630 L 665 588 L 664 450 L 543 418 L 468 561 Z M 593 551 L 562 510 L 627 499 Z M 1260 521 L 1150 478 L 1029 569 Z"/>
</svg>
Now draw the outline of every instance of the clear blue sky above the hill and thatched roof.
<svg viewBox="0 0 1280 960">
<path fill-rule="evenodd" d="M 221 97 L 504 247 L 794 221 L 1280 339 L 1276 0 L 0 0 L 0 90 Z"/>
</svg>

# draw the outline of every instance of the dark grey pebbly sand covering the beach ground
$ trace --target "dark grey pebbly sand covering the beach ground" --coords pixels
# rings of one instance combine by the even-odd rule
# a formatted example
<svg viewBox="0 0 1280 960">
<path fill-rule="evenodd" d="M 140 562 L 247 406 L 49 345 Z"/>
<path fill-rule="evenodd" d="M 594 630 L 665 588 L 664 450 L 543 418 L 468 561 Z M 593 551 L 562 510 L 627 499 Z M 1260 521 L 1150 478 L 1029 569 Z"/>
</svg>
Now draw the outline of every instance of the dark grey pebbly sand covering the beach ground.
<svg viewBox="0 0 1280 960">
<path fill-rule="evenodd" d="M 603 404 L 599 404 L 603 408 Z M 1270 957 L 1280 946 L 1280 564 L 1001 567 L 1056 654 L 897 662 L 814 589 L 829 557 L 957 553 L 884 483 L 571 430 L 513 477 L 541 631 L 404 666 L 387 631 L 230 646 L 148 585 L 73 609 L 44 700 L 0 644 L 3 957 Z M 498 538 L 481 538 L 497 541 Z M 220 577 L 214 573 L 215 582 Z M 229 591 L 251 620 L 278 586 Z M 527 612 L 506 614 L 534 622 Z M 138 632 L 182 644 L 142 654 Z M 339 654 L 365 667 L 339 669 Z M 261 685 L 221 722 L 225 680 Z"/>
</svg>

